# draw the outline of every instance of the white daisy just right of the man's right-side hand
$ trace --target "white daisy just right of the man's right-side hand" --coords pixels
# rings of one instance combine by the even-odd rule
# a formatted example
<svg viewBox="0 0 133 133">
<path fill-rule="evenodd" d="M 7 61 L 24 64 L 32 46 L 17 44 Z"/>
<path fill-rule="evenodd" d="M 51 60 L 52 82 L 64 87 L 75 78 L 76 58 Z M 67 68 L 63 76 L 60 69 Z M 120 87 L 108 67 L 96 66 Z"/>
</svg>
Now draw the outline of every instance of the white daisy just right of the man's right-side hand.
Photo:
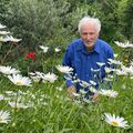
<svg viewBox="0 0 133 133">
<path fill-rule="evenodd" d="M 100 94 L 102 95 L 105 95 L 105 96 L 109 96 L 109 98 L 116 98 L 117 96 L 117 92 L 116 91 L 113 91 L 113 90 L 100 90 L 99 91 Z"/>
</svg>

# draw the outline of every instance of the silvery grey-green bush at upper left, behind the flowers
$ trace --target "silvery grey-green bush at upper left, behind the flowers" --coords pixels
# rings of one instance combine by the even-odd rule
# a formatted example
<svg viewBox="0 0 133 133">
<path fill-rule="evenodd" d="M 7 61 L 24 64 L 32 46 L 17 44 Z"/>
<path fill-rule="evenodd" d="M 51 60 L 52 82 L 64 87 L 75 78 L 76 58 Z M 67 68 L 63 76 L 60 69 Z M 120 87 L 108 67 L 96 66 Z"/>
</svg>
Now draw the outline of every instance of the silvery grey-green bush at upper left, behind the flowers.
<svg viewBox="0 0 133 133">
<path fill-rule="evenodd" d="M 65 33 L 58 16 L 60 10 L 65 12 L 65 3 L 57 8 L 53 0 L 11 0 L 7 25 L 17 37 L 22 38 L 23 47 L 34 50 L 38 44 L 45 44 L 54 35 Z"/>
</svg>

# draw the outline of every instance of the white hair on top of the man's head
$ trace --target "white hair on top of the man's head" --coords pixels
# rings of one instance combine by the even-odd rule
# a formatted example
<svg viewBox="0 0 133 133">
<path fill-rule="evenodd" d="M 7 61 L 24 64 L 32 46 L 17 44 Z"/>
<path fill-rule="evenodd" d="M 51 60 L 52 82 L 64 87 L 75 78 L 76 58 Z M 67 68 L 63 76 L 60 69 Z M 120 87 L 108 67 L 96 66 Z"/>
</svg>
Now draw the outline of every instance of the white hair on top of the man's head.
<svg viewBox="0 0 133 133">
<path fill-rule="evenodd" d="M 78 25 L 78 30 L 79 32 L 81 33 L 81 30 L 82 30 L 82 25 L 85 24 L 85 23 L 89 23 L 89 22 L 92 22 L 94 23 L 96 30 L 98 30 L 98 33 L 100 32 L 101 30 L 101 22 L 98 18 L 91 18 L 91 17 L 84 17 L 80 20 L 79 22 L 79 25 Z"/>
</svg>

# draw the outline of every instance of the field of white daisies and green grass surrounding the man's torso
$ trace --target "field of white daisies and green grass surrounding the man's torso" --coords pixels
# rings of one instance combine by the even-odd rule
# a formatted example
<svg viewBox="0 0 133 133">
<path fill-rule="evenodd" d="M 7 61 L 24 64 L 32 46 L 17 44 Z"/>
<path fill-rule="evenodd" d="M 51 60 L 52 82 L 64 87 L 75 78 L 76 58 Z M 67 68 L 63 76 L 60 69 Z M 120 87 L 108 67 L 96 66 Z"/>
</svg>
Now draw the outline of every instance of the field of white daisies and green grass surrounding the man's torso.
<svg viewBox="0 0 133 133">
<path fill-rule="evenodd" d="M 71 76 L 72 68 L 61 63 L 60 47 L 39 45 L 37 53 L 10 62 L 10 52 L 22 40 L 3 29 L 6 25 L 0 24 L 0 51 L 3 44 L 10 48 L 0 57 L 0 132 L 133 133 L 133 60 L 125 65 L 122 52 L 132 51 L 133 43 L 114 42 L 121 50 L 114 50 L 119 53 L 109 63 L 115 68 L 105 68 L 106 76 L 96 90 L 94 81 L 86 83 Z M 104 63 L 98 65 L 101 69 Z M 89 86 L 99 93 L 99 101 L 85 99 L 84 89 L 74 93 L 74 100 L 69 99 L 65 79 Z"/>
</svg>

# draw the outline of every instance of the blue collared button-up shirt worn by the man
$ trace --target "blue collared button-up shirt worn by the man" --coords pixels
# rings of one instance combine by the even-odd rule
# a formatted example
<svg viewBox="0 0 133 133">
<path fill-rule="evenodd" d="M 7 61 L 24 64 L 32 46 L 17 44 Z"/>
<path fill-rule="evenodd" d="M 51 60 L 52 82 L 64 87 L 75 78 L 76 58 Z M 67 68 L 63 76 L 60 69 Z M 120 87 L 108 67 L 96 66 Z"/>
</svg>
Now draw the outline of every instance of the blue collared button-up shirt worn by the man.
<svg viewBox="0 0 133 133">
<path fill-rule="evenodd" d="M 113 59 L 113 50 L 105 42 L 100 39 L 95 41 L 94 49 L 86 51 L 82 39 L 73 41 L 66 49 L 63 65 L 69 65 L 74 69 L 73 73 L 82 81 L 89 82 L 90 80 L 98 82 L 99 79 L 105 76 L 104 66 L 109 66 L 109 60 Z M 105 65 L 98 65 L 96 62 L 105 63 Z M 93 72 L 92 69 L 101 71 Z M 96 76 L 95 76 L 96 75 Z M 66 80 L 66 86 L 73 85 L 71 80 Z M 79 84 L 76 89 L 81 88 Z"/>
</svg>

